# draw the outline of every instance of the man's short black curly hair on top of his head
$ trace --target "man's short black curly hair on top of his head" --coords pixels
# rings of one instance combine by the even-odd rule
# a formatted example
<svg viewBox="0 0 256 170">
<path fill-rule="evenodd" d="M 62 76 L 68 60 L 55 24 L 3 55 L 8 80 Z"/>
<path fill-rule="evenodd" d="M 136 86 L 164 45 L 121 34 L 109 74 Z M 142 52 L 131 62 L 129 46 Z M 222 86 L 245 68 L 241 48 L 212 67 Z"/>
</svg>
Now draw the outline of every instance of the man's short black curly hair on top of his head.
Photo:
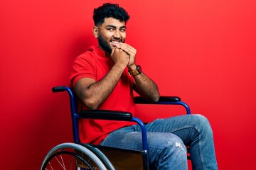
<svg viewBox="0 0 256 170">
<path fill-rule="evenodd" d="M 102 6 L 95 8 L 93 11 L 93 21 L 95 26 L 99 26 L 104 23 L 105 18 L 115 18 L 119 21 L 127 23 L 129 15 L 124 8 L 120 7 L 119 4 L 105 3 Z"/>
</svg>

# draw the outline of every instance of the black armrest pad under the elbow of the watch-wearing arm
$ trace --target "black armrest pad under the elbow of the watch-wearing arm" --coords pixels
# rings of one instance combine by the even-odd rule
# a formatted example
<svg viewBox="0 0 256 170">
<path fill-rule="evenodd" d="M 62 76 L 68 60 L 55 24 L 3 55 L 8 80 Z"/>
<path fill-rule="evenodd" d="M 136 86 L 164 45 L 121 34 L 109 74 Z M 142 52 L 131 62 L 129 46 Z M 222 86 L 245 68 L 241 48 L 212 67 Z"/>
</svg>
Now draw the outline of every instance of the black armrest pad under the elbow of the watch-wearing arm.
<svg viewBox="0 0 256 170">
<path fill-rule="evenodd" d="M 144 98 L 140 96 L 134 97 L 134 101 L 137 104 L 164 104 L 164 103 L 173 103 L 173 102 L 178 102 L 181 101 L 180 97 L 177 96 L 160 96 L 159 101 L 155 103 L 149 103 L 148 101 L 144 100 Z"/>
</svg>

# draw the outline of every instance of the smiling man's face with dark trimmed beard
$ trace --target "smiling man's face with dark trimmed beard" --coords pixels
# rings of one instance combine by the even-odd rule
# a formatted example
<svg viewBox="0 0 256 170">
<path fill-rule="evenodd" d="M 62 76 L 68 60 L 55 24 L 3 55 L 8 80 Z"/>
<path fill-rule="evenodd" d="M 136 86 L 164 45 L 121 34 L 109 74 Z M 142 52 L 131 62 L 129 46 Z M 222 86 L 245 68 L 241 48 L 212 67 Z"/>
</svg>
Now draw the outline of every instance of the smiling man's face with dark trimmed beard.
<svg viewBox="0 0 256 170">
<path fill-rule="evenodd" d="M 112 49 L 125 41 L 126 26 L 124 21 L 119 21 L 114 18 L 105 18 L 105 22 L 101 26 L 97 26 L 97 39 L 99 46 L 105 52 L 111 53 Z"/>
</svg>

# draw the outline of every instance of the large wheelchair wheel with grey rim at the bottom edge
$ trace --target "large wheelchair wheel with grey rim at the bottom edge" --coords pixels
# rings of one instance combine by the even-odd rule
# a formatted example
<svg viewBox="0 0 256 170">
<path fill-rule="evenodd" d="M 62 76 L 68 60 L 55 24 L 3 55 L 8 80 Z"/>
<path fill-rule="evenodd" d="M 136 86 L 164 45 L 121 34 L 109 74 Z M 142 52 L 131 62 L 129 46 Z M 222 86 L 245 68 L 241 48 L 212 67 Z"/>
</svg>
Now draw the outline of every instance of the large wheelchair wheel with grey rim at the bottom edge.
<svg viewBox="0 0 256 170">
<path fill-rule="evenodd" d="M 63 143 L 48 152 L 41 166 L 41 170 L 57 169 L 112 170 L 114 167 L 100 150 L 92 149 L 90 145 Z"/>
</svg>

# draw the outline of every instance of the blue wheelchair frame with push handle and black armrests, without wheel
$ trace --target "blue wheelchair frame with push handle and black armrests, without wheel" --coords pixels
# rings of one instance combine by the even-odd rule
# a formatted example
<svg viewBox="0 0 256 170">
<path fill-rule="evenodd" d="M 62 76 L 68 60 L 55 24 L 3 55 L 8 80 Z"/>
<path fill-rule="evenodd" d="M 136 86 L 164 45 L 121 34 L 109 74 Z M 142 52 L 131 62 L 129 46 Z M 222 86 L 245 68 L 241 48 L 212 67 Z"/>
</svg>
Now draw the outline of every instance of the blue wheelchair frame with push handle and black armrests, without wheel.
<svg viewBox="0 0 256 170">
<path fill-rule="evenodd" d="M 124 120 L 124 121 L 133 121 L 139 124 L 142 128 L 142 147 L 143 150 L 146 152 L 146 162 L 147 167 L 149 167 L 149 159 L 148 159 L 148 144 L 146 138 L 146 128 L 144 127 L 144 123 L 139 118 L 132 117 L 132 113 L 129 112 L 119 112 L 119 111 L 103 111 L 103 110 L 88 110 L 88 111 L 81 111 L 78 113 L 76 107 L 76 98 L 75 93 L 72 89 L 68 86 L 57 86 L 53 87 L 53 93 L 55 92 L 63 92 L 67 91 L 70 97 L 70 111 L 71 111 L 71 118 L 73 124 L 73 140 L 75 143 L 80 143 L 79 140 L 79 130 L 78 130 L 78 119 L 79 118 L 90 118 L 90 119 L 102 119 L 102 120 Z M 186 108 L 186 113 L 191 114 L 191 110 L 188 105 L 181 101 L 181 98 L 176 96 L 161 96 L 159 101 L 156 103 L 148 103 L 143 98 L 137 96 L 134 98 L 135 103 L 139 104 L 158 104 L 158 105 L 181 105 Z M 148 169 L 148 168 L 147 168 Z"/>
</svg>

